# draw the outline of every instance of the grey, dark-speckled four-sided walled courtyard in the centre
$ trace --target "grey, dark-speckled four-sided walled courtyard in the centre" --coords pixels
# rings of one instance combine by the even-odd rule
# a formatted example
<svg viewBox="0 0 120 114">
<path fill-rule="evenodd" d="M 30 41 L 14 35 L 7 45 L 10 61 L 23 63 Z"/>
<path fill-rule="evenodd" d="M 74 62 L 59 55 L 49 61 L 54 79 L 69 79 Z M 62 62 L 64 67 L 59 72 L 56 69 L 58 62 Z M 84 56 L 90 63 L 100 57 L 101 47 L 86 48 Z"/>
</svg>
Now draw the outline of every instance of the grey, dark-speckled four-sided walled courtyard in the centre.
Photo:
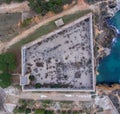
<svg viewBox="0 0 120 114">
<path fill-rule="evenodd" d="M 88 14 L 22 48 L 22 77 L 35 77 L 24 89 L 35 89 L 39 83 L 39 90 L 94 90 L 93 61 L 92 14 Z"/>
</svg>

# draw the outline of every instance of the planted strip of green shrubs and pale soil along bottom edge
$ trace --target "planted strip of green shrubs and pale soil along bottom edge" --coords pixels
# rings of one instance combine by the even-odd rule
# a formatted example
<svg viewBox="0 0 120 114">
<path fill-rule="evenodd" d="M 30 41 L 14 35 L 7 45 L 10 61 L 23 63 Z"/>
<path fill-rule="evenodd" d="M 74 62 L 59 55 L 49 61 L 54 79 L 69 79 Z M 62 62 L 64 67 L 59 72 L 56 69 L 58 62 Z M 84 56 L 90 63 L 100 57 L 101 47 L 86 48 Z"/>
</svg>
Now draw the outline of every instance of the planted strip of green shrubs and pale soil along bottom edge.
<svg viewBox="0 0 120 114">
<path fill-rule="evenodd" d="M 36 105 L 36 103 L 38 105 Z M 84 104 L 82 110 L 74 110 L 72 111 L 74 101 L 53 101 L 53 100 L 32 100 L 32 99 L 20 99 L 16 108 L 14 109 L 15 114 L 55 114 L 53 107 L 56 106 L 56 103 L 59 103 L 61 110 L 57 110 L 59 114 L 82 114 L 86 112 L 86 114 L 90 114 L 90 111 L 87 110 L 88 102 L 80 102 Z M 46 107 L 44 106 L 46 104 Z M 39 107 L 38 107 L 39 106 Z M 85 107 L 85 108 L 84 108 Z M 66 108 L 66 110 L 64 110 Z M 88 108 L 88 109 L 87 109 Z M 51 110 L 53 109 L 53 110 Z M 69 109 L 69 110 L 68 110 Z"/>
</svg>

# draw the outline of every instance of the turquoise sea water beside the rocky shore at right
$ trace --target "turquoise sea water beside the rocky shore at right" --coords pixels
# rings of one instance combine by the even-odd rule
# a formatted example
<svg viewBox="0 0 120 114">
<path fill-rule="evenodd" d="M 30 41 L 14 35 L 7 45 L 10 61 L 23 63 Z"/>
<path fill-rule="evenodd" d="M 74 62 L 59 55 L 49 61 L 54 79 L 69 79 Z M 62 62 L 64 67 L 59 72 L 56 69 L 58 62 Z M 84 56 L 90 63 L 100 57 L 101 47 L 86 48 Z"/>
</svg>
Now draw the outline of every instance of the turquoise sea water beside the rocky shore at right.
<svg viewBox="0 0 120 114">
<path fill-rule="evenodd" d="M 108 21 L 108 24 L 114 26 L 117 37 L 112 42 L 110 55 L 100 61 L 97 83 L 120 83 L 120 11 Z"/>
</svg>

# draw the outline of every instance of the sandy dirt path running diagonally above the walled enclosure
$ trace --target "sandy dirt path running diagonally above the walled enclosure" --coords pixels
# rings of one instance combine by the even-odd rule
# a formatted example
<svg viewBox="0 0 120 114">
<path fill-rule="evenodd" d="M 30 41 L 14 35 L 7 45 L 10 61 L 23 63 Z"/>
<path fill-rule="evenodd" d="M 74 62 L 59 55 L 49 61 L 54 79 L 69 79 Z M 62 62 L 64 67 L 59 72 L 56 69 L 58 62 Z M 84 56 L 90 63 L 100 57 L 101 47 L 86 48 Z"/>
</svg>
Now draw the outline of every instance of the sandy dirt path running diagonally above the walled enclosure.
<svg viewBox="0 0 120 114">
<path fill-rule="evenodd" d="M 25 3 L 26 4 L 26 3 Z M 1 48 L 0 48 L 0 52 L 3 50 L 3 49 L 8 49 L 11 45 L 15 44 L 16 42 L 26 38 L 29 34 L 33 33 L 36 29 L 38 29 L 40 26 L 50 22 L 50 21 L 53 21 L 57 18 L 60 18 L 64 15 L 68 15 L 68 14 L 72 14 L 78 10 L 86 10 L 86 9 L 89 9 L 89 7 L 86 7 L 86 4 L 84 2 L 81 2 L 81 0 L 78 1 L 78 4 L 75 5 L 74 7 L 72 7 L 71 9 L 68 9 L 60 14 L 57 14 L 53 17 L 50 17 L 46 20 L 43 20 L 42 22 L 38 23 L 37 25 L 29 28 L 28 30 L 22 32 L 21 34 L 19 34 L 18 36 L 16 36 L 15 38 L 13 38 L 10 42 L 7 42 L 7 43 L 2 43 L 1 45 Z"/>
</svg>

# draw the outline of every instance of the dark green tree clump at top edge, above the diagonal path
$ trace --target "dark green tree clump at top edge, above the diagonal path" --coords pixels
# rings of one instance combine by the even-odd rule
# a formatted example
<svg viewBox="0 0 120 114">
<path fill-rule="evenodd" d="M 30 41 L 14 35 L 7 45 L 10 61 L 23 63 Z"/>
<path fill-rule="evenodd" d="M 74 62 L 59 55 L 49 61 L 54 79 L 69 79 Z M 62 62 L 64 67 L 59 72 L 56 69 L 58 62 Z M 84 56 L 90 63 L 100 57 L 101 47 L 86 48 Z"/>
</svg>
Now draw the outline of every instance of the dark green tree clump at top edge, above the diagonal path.
<svg viewBox="0 0 120 114">
<path fill-rule="evenodd" d="M 63 5 L 71 3 L 72 0 L 29 0 L 29 6 L 35 12 L 46 15 L 49 11 L 59 13 L 63 10 Z"/>
</svg>

